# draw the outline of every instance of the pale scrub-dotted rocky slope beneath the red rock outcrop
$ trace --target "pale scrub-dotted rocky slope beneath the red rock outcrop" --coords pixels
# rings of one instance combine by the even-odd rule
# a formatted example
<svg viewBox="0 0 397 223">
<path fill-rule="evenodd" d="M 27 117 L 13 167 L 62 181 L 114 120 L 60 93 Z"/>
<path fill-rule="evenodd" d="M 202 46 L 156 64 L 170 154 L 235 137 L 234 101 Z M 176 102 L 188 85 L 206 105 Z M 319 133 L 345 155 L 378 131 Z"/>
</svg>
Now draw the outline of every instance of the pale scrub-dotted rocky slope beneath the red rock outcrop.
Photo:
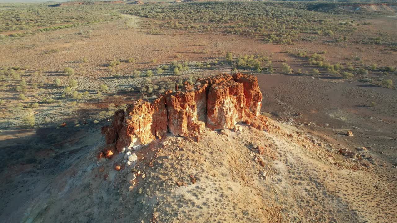
<svg viewBox="0 0 397 223">
<path fill-rule="evenodd" d="M 169 134 L 109 159 L 93 147 L 22 205 L 22 222 L 395 222 L 397 184 L 371 152 L 268 127 Z"/>
</svg>

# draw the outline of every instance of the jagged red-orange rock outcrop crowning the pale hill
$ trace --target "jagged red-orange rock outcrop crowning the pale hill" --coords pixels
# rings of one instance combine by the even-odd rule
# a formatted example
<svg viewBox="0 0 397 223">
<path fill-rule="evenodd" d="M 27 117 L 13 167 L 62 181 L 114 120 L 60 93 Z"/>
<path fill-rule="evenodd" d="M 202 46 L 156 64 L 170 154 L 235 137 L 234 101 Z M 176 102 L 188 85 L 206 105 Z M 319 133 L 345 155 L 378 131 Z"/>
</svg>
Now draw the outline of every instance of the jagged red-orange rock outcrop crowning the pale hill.
<svg viewBox="0 0 397 223">
<path fill-rule="evenodd" d="M 102 128 L 106 143 L 124 152 L 167 133 L 198 137 L 206 127 L 233 129 L 239 122 L 267 129 L 267 118 L 259 114 L 262 93 L 256 77 L 223 74 L 184 85 L 183 91 L 168 92 L 151 102 L 137 100 L 126 112 L 118 110 L 112 124 Z"/>
</svg>

